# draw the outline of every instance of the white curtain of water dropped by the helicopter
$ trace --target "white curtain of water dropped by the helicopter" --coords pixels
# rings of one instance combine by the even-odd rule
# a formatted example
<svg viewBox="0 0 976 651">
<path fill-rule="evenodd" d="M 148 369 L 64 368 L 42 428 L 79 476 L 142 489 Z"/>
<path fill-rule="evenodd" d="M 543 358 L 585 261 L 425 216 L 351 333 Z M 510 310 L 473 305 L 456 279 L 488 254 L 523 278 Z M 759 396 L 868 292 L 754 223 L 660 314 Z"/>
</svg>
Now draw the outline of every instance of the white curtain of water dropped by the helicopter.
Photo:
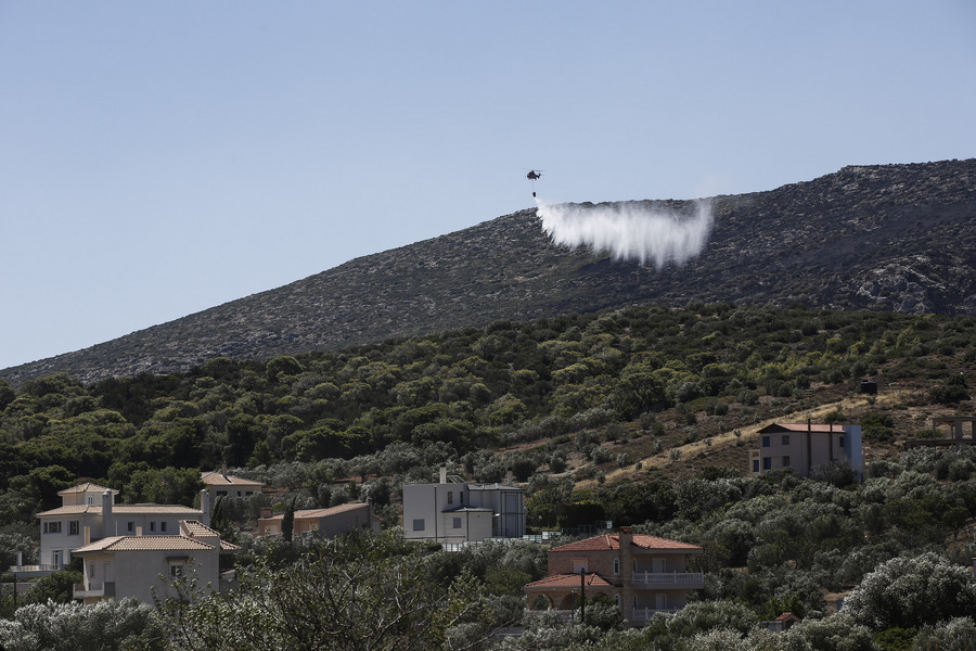
<svg viewBox="0 0 976 651">
<path fill-rule="evenodd" d="M 545 204 L 536 214 L 554 244 L 607 251 L 615 260 L 683 265 L 697 256 L 711 234 L 711 202 L 699 200 L 693 216 L 662 206 L 626 202 L 603 205 Z"/>
</svg>

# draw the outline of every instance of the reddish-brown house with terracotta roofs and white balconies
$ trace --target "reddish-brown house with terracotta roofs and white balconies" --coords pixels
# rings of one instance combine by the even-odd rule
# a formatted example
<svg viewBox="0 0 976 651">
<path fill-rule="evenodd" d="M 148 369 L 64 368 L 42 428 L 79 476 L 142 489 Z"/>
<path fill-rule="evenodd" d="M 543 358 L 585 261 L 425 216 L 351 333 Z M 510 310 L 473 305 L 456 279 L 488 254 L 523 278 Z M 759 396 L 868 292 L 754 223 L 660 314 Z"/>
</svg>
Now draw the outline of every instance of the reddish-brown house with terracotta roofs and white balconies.
<svg viewBox="0 0 976 651">
<path fill-rule="evenodd" d="M 525 586 L 528 610 L 556 610 L 567 617 L 587 599 L 602 593 L 620 609 L 631 626 L 647 624 L 654 613 L 682 608 L 689 590 L 705 587 L 701 572 L 688 571 L 697 545 L 634 534 L 621 526 L 549 550 L 549 576 Z"/>
</svg>

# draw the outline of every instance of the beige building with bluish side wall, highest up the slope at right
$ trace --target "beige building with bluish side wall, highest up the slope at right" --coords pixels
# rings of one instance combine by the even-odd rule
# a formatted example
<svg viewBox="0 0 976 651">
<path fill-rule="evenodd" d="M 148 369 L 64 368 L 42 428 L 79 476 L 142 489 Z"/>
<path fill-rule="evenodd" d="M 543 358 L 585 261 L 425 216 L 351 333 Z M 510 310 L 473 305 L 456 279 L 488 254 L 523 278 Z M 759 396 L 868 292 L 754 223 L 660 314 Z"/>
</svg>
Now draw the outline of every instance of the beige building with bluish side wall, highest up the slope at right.
<svg viewBox="0 0 976 651">
<path fill-rule="evenodd" d="M 838 461 L 848 463 L 859 478 L 863 476 L 860 425 L 773 423 L 759 430 L 759 449 L 749 450 L 749 474 L 792 468 L 807 477 Z"/>
</svg>

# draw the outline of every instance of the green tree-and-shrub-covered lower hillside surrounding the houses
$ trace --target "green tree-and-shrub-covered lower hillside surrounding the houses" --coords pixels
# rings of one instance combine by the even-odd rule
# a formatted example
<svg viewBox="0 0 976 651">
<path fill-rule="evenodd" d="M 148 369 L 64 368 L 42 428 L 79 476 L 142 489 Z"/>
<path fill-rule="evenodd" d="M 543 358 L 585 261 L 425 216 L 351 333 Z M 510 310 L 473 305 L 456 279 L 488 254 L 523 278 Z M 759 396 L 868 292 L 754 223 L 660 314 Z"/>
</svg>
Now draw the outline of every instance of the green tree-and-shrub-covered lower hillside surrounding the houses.
<svg viewBox="0 0 976 651">
<path fill-rule="evenodd" d="M 242 649 L 297 648 L 294 636 L 304 634 L 273 622 L 322 585 L 299 577 L 339 589 L 355 571 L 376 588 L 396 577 L 404 583 L 389 589 L 418 600 L 376 648 L 411 639 L 486 649 L 493 626 L 522 618 L 521 586 L 543 575 L 544 548 L 432 552 L 396 529 L 348 548 L 303 547 L 255 541 L 233 524 L 265 506 L 365 499 L 396 525 L 402 484 L 447 465 L 485 482 L 513 473 L 532 531 L 613 520 L 705 548 L 705 590 L 644 633 L 615 631 L 613 609 L 594 604 L 587 625 L 529 617 L 528 633 L 500 649 L 831 649 L 822 640 L 836 639 L 897 649 L 971 628 L 976 640 L 971 620 L 952 620 L 976 607 L 965 569 L 976 556 L 976 452 L 897 445 L 937 435 L 932 416 L 972 412 L 974 355 L 968 316 L 697 304 L 496 321 L 268 361 L 218 358 L 89 385 L 66 374 L 0 385 L 0 562 L 35 553 L 34 513 L 56 506 L 56 490 L 74 482 L 95 480 L 125 501 L 190 503 L 198 471 L 226 462 L 270 488 L 222 503 L 218 518 L 224 536 L 244 545 L 236 562 L 251 578 L 241 592 L 162 611 L 152 626 L 169 630 L 170 648 L 220 648 L 218 629 Z M 862 378 L 878 382 L 878 396 L 856 393 Z M 744 476 L 758 424 L 807 417 L 862 425 L 863 484 L 844 467 L 810 480 Z M 898 565 L 909 558 L 917 562 Z M 897 605 L 884 591 L 895 574 Z M 831 615 L 832 596 L 856 587 L 849 614 Z M 367 621 L 395 616 L 369 610 L 390 608 L 380 593 L 362 599 L 356 608 Z M 24 624 L 0 626 L 0 636 L 14 636 L 0 641 L 68 616 L 36 600 Z M 374 627 L 333 630 L 345 611 L 330 608 L 342 603 L 305 613 L 316 635 L 376 636 Z M 784 610 L 809 623 L 778 641 L 755 629 Z M 419 615 L 427 612 L 457 616 Z M 156 630 L 146 626 L 133 635 Z"/>
</svg>

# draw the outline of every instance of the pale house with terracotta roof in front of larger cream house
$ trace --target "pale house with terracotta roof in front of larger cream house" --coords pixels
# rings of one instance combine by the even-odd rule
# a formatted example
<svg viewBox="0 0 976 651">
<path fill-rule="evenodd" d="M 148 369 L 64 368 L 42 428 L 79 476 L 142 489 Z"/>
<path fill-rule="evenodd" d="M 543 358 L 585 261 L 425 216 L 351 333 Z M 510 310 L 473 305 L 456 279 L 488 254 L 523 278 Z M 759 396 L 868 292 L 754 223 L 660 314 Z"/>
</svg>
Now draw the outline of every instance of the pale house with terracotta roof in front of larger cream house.
<svg viewBox="0 0 976 651">
<path fill-rule="evenodd" d="M 195 520 L 181 520 L 177 535 L 108 536 L 74 550 L 84 559 L 84 583 L 75 584 L 74 598 L 84 603 L 134 597 L 152 603 L 174 597 L 171 580 L 196 579 L 196 588 L 220 588 L 220 554 L 239 548 Z"/>
</svg>

